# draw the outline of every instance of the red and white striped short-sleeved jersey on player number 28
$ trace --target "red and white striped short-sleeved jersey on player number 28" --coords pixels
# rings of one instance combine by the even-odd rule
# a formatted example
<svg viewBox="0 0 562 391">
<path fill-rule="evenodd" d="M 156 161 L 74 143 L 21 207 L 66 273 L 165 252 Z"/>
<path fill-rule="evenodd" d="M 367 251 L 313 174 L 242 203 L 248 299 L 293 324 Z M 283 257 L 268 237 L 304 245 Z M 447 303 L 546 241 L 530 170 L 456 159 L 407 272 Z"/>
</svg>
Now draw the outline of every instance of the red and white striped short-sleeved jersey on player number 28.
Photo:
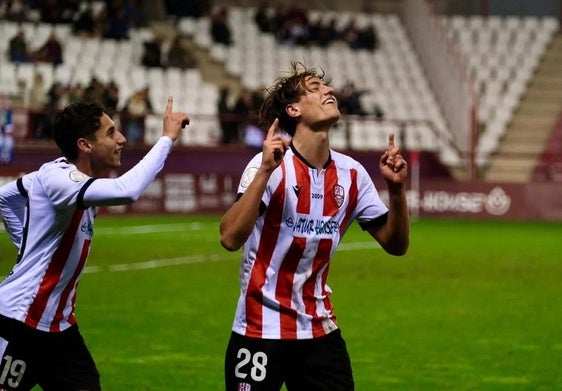
<svg viewBox="0 0 562 391">
<path fill-rule="evenodd" d="M 262 197 L 266 208 L 244 244 L 234 332 L 309 339 L 338 328 L 326 283 L 330 259 L 353 220 L 380 220 L 388 208 L 359 162 L 330 154 L 317 170 L 291 145 L 272 173 Z M 259 153 L 247 165 L 239 193 L 261 159 Z"/>
</svg>

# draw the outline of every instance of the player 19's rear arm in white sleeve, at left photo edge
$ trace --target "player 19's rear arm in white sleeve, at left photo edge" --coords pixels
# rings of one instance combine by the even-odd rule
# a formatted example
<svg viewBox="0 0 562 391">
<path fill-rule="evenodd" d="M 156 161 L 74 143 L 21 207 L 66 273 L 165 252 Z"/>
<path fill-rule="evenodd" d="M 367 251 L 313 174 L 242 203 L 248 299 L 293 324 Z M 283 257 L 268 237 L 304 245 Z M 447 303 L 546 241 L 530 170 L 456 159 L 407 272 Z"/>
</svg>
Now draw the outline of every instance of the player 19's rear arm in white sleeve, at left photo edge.
<svg viewBox="0 0 562 391">
<path fill-rule="evenodd" d="M 18 248 L 23 234 L 25 207 L 35 172 L 0 187 L 0 218 L 12 243 Z"/>
</svg>

